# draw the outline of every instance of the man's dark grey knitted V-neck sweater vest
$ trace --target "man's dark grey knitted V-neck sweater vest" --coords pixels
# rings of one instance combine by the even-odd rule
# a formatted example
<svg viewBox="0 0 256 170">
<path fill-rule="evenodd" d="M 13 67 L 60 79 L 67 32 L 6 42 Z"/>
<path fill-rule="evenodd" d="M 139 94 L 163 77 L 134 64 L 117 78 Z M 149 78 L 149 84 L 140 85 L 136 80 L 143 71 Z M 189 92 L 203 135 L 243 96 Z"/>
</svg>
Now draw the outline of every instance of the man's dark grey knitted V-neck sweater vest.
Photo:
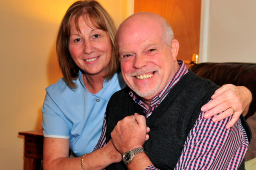
<svg viewBox="0 0 256 170">
<path fill-rule="evenodd" d="M 152 115 L 146 118 L 150 138 L 143 147 L 154 166 L 162 170 L 175 168 L 188 133 L 201 112 L 200 108 L 210 100 L 216 89 L 217 85 L 189 71 L 171 89 Z M 134 113 L 145 115 L 130 97 L 129 91 L 129 88 L 122 89 L 110 98 L 106 109 L 106 142 L 110 140 L 110 133 L 119 120 Z M 127 168 L 122 161 L 106 168 L 114 169 Z"/>
</svg>

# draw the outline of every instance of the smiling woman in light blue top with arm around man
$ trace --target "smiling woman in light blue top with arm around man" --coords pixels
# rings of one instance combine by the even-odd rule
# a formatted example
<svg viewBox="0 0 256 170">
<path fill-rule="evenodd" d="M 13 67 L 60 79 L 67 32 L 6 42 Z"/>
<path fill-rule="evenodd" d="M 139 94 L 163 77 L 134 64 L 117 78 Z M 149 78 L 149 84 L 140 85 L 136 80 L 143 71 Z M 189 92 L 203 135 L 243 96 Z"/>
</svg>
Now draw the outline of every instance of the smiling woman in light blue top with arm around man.
<svg viewBox="0 0 256 170">
<path fill-rule="evenodd" d="M 103 169 L 121 160 L 111 140 L 92 152 L 108 100 L 125 85 L 115 34 L 112 18 L 96 1 L 75 2 L 62 19 L 56 46 L 64 77 L 46 88 L 42 107 L 44 170 Z"/>
</svg>

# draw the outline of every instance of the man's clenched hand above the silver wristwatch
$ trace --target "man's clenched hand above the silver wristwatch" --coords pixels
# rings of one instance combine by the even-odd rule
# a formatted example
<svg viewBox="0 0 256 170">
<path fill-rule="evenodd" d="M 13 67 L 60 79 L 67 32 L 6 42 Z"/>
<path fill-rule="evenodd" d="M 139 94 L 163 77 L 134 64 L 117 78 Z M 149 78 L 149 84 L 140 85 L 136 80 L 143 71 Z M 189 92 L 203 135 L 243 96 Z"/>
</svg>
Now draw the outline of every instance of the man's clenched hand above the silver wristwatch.
<svg viewBox="0 0 256 170">
<path fill-rule="evenodd" d="M 121 153 L 134 148 L 142 147 L 148 138 L 146 119 L 144 116 L 135 113 L 119 121 L 111 132 L 111 138 L 116 149 Z"/>
</svg>

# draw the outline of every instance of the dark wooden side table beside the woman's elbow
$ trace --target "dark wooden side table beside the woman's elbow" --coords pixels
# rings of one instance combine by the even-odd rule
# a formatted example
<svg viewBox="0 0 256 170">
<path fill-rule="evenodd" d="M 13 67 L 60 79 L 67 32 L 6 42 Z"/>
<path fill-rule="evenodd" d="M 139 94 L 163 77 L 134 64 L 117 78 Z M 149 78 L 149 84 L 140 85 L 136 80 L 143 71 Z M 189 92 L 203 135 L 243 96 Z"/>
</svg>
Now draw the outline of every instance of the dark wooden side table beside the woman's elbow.
<svg viewBox="0 0 256 170">
<path fill-rule="evenodd" d="M 43 160 L 44 136 L 42 130 L 19 132 L 25 136 L 24 170 L 40 170 Z"/>
</svg>

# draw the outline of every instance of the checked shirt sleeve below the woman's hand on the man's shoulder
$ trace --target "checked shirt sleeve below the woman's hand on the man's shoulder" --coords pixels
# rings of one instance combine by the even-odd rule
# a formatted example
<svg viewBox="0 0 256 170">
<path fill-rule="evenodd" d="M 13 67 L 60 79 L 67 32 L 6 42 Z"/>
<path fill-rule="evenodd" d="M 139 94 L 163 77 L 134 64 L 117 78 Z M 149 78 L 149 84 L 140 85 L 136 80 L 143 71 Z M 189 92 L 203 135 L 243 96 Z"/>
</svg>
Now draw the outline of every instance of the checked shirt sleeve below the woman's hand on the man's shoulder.
<svg viewBox="0 0 256 170">
<path fill-rule="evenodd" d="M 212 118 L 205 119 L 204 112 L 200 113 L 175 170 L 238 169 L 249 144 L 240 119 L 232 128 L 226 129 L 225 125 L 232 117 L 216 123 Z"/>
</svg>

